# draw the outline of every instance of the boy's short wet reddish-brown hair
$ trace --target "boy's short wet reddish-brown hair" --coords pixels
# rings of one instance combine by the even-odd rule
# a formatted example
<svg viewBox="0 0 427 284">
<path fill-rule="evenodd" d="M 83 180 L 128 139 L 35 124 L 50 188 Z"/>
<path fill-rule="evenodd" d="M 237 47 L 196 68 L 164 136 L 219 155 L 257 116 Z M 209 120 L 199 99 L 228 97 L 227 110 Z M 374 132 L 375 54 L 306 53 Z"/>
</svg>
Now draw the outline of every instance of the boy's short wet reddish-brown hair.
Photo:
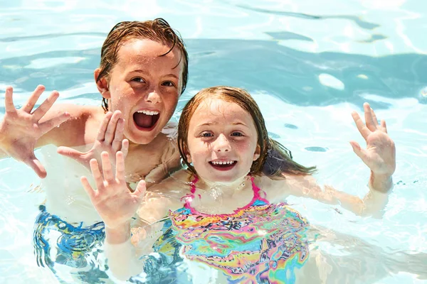
<svg viewBox="0 0 427 284">
<path fill-rule="evenodd" d="M 117 53 L 122 45 L 133 39 L 149 39 L 167 45 L 170 49 L 167 55 L 176 47 L 181 52 L 178 65 L 183 61 L 181 94 L 184 92 L 189 74 L 189 55 L 184 46 L 184 41 L 178 32 L 174 31 L 163 18 L 154 21 L 122 21 L 117 23 L 104 41 L 101 49 L 100 74 L 96 82 L 110 75 L 112 67 L 117 63 Z M 176 65 L 176 66 L 178 66 Z M 102 109 L 108 111 L 108 101 L 102 98 Z"/>
</svg>

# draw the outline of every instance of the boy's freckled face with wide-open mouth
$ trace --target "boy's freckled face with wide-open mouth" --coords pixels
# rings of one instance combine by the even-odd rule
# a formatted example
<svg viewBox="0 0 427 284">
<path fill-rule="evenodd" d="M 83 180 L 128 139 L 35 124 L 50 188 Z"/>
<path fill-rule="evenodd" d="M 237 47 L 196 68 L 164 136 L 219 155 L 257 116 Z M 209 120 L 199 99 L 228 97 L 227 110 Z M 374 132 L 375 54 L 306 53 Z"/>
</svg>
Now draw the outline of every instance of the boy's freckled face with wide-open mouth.
<svg viewBox="0 0 427 284">
<path fill-rule="evenodd" d="M 98 83 L 110 110 L 122 111 L 125 136 L 133 143 L 152 142 L 176 108 L 183 63 L 178 48 L 159 56 L 168 50 L 153 40 L 130 40 L 120 47 L 109 77 Z"/>
</svg>

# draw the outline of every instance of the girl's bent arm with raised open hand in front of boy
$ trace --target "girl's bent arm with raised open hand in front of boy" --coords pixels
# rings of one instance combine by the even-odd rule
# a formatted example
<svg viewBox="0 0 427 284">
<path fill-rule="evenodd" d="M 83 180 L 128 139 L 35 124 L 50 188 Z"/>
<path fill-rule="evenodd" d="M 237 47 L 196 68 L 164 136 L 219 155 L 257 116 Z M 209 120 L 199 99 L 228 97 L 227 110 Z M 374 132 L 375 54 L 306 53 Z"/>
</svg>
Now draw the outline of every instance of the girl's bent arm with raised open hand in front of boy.
<svg viewBox="0 0 427 284">
<path fill-rule="evenodd" d="M 140 181 L 135 192 L 131 192 L 125 182 L 123 153 L 119 151 L 116 154 L 115 173 L 107 152 L 102 152 L 101 160 L 102 174 L 97 160 L 90 160 L 97 190 L 93 190 L 86 178 L 82 178 L 82 183 L 105 223 L 104 246 L 108 266 L 116 278 L 127 280 L 142 272 L 144 263 L 139 261 L 139 256 L 144 251 L 141 250 L 141 245 L 151 248 L 156 241 L 153 235 L 159 232 L 161 224 L 155 222 L 167 216 L 169 209 L 181 206 L 180 200 L 175 199 L 174 194 L 179 195 L 176 184 L 185 173 L 176 173 L 152 187 L 148 194 L 145 194 L 144 181 Z M 169 195 L 169 191 L 172 195 Z M 131 219 L 136 213 L 139 220 L 137 227 L 132 229 L 131 239 Z M 147 250 L 145 252 L 147 253 Z"/>
</svg>

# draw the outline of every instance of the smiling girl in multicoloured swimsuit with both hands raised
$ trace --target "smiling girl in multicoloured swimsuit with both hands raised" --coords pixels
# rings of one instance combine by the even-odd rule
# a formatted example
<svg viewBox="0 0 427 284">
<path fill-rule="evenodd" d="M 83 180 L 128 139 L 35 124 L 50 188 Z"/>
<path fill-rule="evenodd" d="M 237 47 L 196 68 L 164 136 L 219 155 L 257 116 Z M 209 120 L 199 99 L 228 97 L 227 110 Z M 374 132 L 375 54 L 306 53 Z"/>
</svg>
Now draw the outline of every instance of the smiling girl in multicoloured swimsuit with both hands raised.
<svg viewBox="0 0 427 284">
<path fill-rule="evenodd" d="M 365 109 L 367 120 L 372 114 Z M 359 128 L 358 117 L 354 115 Z M 394 144 L 381 133 L 371 141 L 381 149 L 371 162 L 391 178 L 394 165 L 381 161 L 393 160 L 385 155 L 394 153 Z M 188 170 L 179 170 L 147 194 L 144 181 L 135 192 L 127 190 L 120 151 L 115 173 L 108 153 L 102 153 L 102 174 L 97 161 L 90 161 L 96 191 L 82 178 L 105 222 L 105 253 L 118 278 L 142 271 L 137 256 L 152 251 L 154 241 L 168 231 L 158 221 L 169 217 L 184 257 L 216 268 L 226 281 L 293 282 L 308 258 L 308 223 L 285 203 L 288 195 L 341 203 L 358 214 L 374 213 L 386 203 L 386 194 L 374 187 L 363 201 L 332 187 L 322 190 L 310 175 L 315 168 L 295 163 L 283 146 L 268 138 L 257 104 L 242 89 L 212 87 L 196 94 L 182 111 L 178 147 Z M 139 218 L 132 246 L 130 219 L 135 212 Z"/>
</svg>

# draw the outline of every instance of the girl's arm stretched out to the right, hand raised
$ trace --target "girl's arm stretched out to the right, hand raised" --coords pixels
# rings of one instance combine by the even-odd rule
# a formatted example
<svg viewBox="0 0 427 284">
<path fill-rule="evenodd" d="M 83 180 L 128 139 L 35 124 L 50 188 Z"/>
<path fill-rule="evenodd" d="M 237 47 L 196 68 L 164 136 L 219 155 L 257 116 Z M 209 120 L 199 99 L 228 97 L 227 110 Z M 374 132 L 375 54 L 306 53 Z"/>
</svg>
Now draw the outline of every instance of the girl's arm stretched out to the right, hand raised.
<svg viewBox="0 0 427 284">
<path fill-rule="evenodd" d="M 396 168 L 396 149 L 394 141 L 387 134 L 386 121 L 378 123 L 374 111 L 369 104 L 364 104 L 365 123 L 357 112 L 352 113 L 357 129 L 367 142 L 363 149 L 355 141 L 350 141 L 354 153 L 369 167 L 369 192 L 362 199 L 349 195 L 346 192 L 335 190 L 333 187 L 320 187 L 311 175 L 285 175 L 285 180 L 270 180 L 265 189 L 270 190 L 273 199 L 283 195 L 283 190 L 288 189 L 288 194 L 310 197 L 326 204 L 340 204 L 345 209 L 358 215 L 372 215 L 381 217 L 383 209 L 389 200 L 389 192 L 393 188 L 391 176 Z"/>
</svg>

